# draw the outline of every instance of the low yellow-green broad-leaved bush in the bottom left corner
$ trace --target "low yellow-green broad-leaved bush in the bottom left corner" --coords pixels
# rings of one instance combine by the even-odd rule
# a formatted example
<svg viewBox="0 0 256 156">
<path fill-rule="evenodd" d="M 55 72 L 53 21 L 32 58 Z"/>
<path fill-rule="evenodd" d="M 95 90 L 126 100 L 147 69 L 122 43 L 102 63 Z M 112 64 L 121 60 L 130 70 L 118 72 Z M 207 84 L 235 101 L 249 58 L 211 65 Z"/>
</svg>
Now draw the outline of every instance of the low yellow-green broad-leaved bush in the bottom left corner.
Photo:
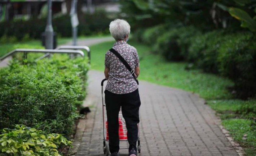
<svg viewBox="0 0 256 156">
<path fill-rule="evenodd" d="M 42 130 L 15 125 L 15 129 L 3 129 L 0 135 L 0 156 L 61 156 L 58 146 L 71 145 L 61 134 L 44 135 Z"/>
</svg>

